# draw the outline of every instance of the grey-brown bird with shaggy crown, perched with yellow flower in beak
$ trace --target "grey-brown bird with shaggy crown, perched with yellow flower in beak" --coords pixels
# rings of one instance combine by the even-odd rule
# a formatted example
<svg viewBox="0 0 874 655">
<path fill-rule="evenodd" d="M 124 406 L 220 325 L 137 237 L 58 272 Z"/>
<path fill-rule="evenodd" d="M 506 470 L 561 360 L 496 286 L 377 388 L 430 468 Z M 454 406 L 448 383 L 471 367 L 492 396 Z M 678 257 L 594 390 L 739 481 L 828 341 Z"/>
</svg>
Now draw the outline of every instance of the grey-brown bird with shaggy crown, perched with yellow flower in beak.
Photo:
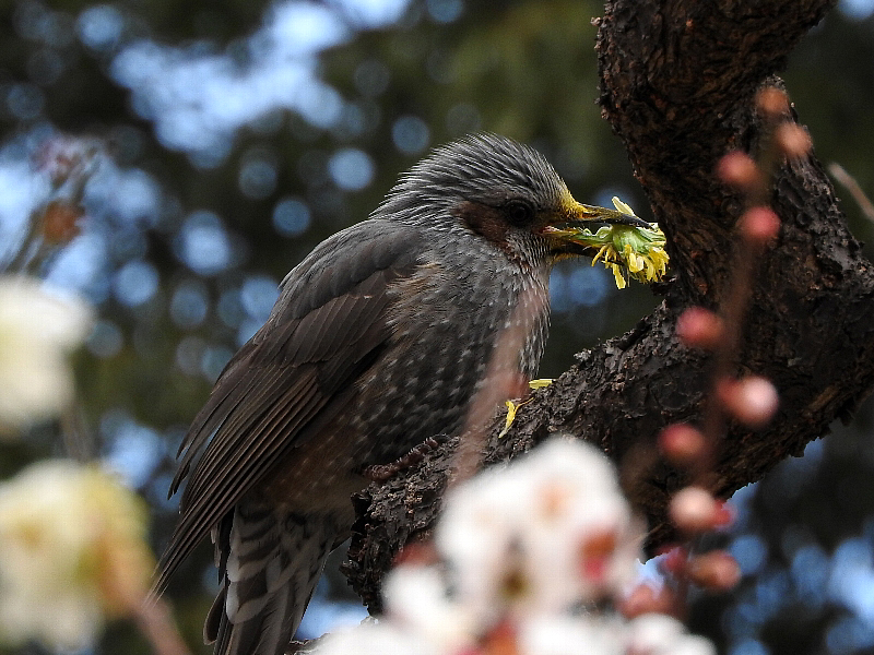
<svg viewBox="0 0 874 655">
<path fill-rule="evenodd" d="M 560 226 L 635 222 L 577 202 L 543 155 L 493 133 L 402 174 L 285 276 L 220 374 L 179 446 L 170 496 L 187 483 L 156 588 L 210 535 L 220 591 L 204 641 L 284 653 L 368 467 L 459 433 L 520 302 L 533 315 L 511 366 L 534 377 L 551 269 L 593 254 Z"/>
</svg>

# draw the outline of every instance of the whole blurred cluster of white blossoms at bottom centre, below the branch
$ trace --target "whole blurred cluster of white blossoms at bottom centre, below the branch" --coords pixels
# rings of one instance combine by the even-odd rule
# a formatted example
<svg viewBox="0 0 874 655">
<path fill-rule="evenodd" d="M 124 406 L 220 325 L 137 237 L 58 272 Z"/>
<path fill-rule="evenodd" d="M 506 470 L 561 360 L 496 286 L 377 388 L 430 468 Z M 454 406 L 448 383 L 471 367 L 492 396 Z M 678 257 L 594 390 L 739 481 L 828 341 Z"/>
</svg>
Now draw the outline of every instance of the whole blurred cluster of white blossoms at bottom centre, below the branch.
<svg viewBox="0 0 874 655">
<path fill-rule="evenodd" d="M 642 524 L 597 449 L 558 438 L 452 489 L 434 548 L 386 579 L 386 616 L 326 638 L 321 655 L 714 655 L 662 615 L 615 607 Z"/>
</svg>

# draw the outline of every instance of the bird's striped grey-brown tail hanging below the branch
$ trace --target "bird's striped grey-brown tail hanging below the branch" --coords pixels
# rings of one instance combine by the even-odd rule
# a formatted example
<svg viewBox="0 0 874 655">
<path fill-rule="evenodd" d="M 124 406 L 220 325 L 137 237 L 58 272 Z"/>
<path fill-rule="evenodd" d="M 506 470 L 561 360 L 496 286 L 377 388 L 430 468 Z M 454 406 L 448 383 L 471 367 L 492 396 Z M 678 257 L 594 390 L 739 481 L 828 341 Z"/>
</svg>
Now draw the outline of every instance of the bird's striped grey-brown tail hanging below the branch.
<svg viewBox="0 0 874 655">
<path fill-rule="evenodd" d="M 282 655 L 336 536 L 326 514 L 237 504 L 214 535 L 223 584 L 203 638 L 215 655 Z"/>
</svg>

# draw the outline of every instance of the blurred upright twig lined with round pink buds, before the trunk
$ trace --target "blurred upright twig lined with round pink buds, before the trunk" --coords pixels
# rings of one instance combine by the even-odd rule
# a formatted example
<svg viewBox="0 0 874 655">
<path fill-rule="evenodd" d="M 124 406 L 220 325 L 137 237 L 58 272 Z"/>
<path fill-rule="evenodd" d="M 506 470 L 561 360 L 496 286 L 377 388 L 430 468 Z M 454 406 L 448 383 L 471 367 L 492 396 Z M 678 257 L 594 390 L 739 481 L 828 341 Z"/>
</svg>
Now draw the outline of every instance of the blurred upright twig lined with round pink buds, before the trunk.
<svg viewBox="0 0 874 655">
<path fill-rule="evenodd" d="M 779 402 L 769 380 L 757 376 L 739 379 L 736 368 L 755 271 L 780 230 L 780 218 L 770 207 L 777 169 L 784 160 L 807 156 L 811 139 L 792 120 L 782 91 L 760 91 L 756 109 L 763 118 L 763 146 L 756 159 L 735 151 L 723 156 L 717 166 L 721 180 L 743 193 L 745 205 L 735 225 L 732 273 L 719 311 L 690 308 L 677 320 L 677 336 L 683 343 L 713 354 L 701 429 L 677 424 L 659 437 L 669 462 L 686 468 L 692 478 L 690 486 L 673 495 L 669 507 L 671 522 L 685 540 L 668 557 L 675 610 L 680 612 L 685 610 L 692 584 L 727 591 L 740 579 L 740 568 L 730 553 L 699 552 L 699 537 L 731 522 L 730 512 L 714 497 L 719 492 L 714 479 L 717 458 L 729 418 L 759 428 L 773 417 Z"/>
</svg>

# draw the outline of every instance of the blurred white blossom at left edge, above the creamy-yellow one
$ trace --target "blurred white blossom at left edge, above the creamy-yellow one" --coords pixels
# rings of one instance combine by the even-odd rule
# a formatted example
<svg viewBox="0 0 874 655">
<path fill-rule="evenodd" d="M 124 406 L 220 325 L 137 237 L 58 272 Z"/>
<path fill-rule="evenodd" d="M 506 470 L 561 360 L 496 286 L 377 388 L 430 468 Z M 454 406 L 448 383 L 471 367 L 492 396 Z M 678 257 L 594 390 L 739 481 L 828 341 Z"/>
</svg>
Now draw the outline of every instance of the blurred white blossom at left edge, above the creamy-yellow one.
<svg viewBox="0 0 874 655">
<path fill-rule="evenodd" d="M 0 434 L 57 416 L 73 398 L 67 356 L 87 336 L 91 308 L 26 276 L 0 277 Z"/>
</svg>

